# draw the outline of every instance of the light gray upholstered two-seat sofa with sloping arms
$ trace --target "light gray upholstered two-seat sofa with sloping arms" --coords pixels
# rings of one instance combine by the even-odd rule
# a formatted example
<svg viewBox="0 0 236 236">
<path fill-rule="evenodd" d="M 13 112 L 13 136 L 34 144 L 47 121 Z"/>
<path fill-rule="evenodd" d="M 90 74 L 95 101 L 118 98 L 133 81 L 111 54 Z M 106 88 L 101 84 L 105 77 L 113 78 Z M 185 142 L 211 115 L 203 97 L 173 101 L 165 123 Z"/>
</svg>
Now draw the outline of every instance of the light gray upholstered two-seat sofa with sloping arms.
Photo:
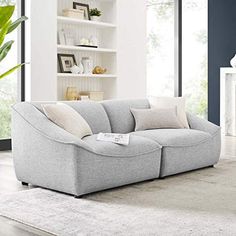
<svg viewBox="0 0 236 236">
<path fill-rule="evenodd" d="M 12 145 L 22 183 L 81 196 L 139 181 L 163 178 L 219 160 L 220 127 L 188 114 L 191 129 L 134 132 L 130 108 L 150 108 L 147 99 L 65 102 L 94 135 L 76 138 L 44 115 L 41 103 L 13 106 Z M 96 141 L 99 132 L 130 133 L 130 144 Z"/>
</svg>

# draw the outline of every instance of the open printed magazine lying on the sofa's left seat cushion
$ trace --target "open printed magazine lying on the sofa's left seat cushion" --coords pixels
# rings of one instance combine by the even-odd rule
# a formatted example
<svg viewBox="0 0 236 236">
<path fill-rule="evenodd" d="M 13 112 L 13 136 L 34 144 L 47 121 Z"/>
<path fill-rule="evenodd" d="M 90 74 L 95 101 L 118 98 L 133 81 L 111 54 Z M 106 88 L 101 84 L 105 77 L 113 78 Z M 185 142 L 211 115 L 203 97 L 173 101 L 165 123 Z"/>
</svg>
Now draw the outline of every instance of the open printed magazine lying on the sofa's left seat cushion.
<svg viewBox="0 0 236 236">
<path fill-rule="evenodd" d="M 129 134 L 115 134 L 115 133 L 99 133 L 98 141 L 112 142 L 122 145 L 129 144 Z"/>
</svg>

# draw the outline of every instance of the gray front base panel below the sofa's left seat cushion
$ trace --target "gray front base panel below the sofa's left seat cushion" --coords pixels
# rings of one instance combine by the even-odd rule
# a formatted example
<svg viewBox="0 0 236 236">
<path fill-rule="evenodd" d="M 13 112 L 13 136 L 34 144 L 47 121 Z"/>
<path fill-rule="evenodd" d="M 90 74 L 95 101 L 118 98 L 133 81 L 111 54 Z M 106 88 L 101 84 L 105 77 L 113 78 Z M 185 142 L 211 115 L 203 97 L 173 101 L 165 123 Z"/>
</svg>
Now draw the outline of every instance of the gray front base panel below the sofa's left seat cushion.
<svg viewBox="0 0 236 236">
<path fill-rule="evenodd" d="M 78 157 L 78 195 L 155 179 L 160 175 L 161 149 L 129 158 L 112 158 L 78 148 L 75 155 Z"/>
</svg>

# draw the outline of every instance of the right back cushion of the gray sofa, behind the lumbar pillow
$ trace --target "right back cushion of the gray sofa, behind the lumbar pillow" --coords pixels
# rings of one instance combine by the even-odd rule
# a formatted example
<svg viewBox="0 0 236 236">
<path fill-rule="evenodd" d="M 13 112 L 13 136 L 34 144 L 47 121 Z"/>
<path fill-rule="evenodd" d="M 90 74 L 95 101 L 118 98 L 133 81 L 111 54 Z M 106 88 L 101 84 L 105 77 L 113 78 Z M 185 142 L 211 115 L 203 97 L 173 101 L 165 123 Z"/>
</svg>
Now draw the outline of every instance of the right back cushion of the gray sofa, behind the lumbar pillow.
<svg viewBox="0 0 236 236">
<path fill-rule="evenodd" d="M 135 122 L 130 108 L 150 108 L 147 99 L 110 100 L 101 103 L 109 117 L 113 133 L 129 133 L 134 131 Z"/>
</svg>

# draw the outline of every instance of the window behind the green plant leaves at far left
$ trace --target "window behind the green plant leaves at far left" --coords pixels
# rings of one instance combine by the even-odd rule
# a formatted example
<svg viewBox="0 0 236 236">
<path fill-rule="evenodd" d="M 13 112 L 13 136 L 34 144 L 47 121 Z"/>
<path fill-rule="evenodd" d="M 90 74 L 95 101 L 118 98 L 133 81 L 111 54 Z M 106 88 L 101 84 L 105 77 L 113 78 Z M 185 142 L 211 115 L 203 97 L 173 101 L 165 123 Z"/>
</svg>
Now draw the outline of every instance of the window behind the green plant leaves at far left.
<svg viewBox="0 0 236 236">
<path fill-rule="evenodd" d="M 12 20 L 16 20 L 21 15 L 21 3 L 23 1 L 15 2 L 16 9 Z M 14 40 L 15 42 L 7 57 L 0 63 L 1 72 L 7 71 L 21 61 L 21 35 L 15 30 L 7 35 L 5 41 L 7 40 Z M 21 72 L 17 71 L 0 80 L 0 150 L 9 149 L 10 147 L 11 105 L 21 100 L 20 75 Z"/>
</svg>

